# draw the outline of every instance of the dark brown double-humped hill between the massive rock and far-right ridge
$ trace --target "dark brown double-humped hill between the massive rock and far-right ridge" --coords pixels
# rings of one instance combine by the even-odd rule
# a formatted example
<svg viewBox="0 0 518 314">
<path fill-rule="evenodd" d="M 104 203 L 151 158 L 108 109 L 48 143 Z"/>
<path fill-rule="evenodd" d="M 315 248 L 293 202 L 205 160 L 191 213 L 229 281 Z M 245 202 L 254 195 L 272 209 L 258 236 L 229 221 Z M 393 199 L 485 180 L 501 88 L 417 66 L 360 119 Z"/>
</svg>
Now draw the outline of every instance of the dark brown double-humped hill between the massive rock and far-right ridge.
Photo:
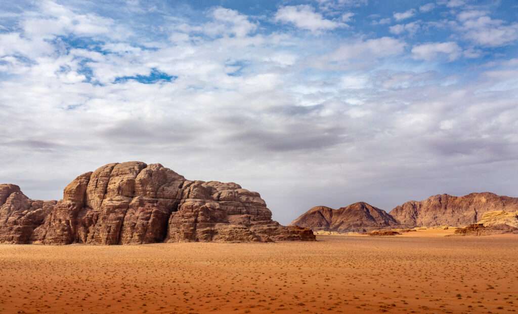
<svg viewBox="0 0 518 314">
<path fill-rule="evenodd" d="M 313 207 L 291 223 L 293 226 L 310 228 L 313 231 L 366 232 L 399 226 L 385 211 L 364 202 L 332 209 Z"/>
</svg>

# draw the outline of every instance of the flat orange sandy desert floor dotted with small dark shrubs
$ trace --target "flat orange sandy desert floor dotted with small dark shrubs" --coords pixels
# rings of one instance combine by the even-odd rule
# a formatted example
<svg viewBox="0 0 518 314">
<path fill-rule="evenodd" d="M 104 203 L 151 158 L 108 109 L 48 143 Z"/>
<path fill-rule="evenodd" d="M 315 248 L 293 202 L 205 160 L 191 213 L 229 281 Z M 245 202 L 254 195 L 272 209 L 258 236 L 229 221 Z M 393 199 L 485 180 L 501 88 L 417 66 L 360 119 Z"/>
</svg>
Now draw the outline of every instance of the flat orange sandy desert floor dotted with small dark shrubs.
<svg viewBox="0 0 518 314">
<path fill-rule="evenodd" d="M 518 310 L 518 236 L 415 234 L 318 236 L 309 243 L 0 245 L 0 312 Z"/>
</svg>

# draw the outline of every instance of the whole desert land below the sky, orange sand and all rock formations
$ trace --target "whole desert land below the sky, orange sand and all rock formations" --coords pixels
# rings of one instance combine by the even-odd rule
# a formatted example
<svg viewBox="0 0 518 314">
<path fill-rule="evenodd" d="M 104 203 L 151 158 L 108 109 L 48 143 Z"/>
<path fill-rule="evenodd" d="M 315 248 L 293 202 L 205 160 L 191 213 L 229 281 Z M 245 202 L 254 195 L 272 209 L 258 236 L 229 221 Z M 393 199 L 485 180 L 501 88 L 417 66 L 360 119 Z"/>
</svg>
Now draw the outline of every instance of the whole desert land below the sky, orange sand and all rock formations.
<svg viewBox="0 0 518 314">
<path fill-rule="evenodd" d="M 0 312 L 515 311 L 517 206 L 357 202 L 282 226 L 260 194 L 159 163 L 99 167 L 59 201 L 0 184 Z"/>
</svg>

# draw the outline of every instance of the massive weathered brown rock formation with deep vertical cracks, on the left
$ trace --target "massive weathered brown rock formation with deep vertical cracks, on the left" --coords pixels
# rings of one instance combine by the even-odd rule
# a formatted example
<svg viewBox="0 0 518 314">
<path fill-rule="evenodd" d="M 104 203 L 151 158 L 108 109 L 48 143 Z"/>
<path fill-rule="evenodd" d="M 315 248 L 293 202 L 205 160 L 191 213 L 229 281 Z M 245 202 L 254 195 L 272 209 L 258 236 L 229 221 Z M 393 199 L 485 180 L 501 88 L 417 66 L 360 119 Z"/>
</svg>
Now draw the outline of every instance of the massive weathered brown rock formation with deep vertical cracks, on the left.
<svg viewBox="0 0 518 314">
<path fill-rule="evenodd" d="M 110 163 L 78 176 L 60 201 L 28 199 L 0 185 L 0 242 L 141 244 L 314 240 L 281 226 L 256 192 L 235 183 L 189 181 L 159 163 Z"/>
</svg>

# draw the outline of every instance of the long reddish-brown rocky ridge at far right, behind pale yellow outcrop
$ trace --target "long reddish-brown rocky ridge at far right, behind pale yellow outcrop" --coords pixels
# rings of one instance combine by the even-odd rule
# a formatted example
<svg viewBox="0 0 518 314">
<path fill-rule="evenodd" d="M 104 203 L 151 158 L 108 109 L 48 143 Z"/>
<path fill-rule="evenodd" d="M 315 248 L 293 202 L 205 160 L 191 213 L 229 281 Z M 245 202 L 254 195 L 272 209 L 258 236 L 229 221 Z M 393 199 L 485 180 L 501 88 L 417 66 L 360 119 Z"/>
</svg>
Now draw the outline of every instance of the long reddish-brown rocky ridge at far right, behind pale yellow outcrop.
<svg viewBox="0 0 518 314">
<path fill-rule="evenodd" d="M 406 202 L 394 208 L 390 214 L 408 227 L 466 226 L 477 223 L 485 212 L 497 210 L 518 211 L 518 198 L 487 192 L 465 196 L 443 194 L 423 201 Z"/>
</svg>

